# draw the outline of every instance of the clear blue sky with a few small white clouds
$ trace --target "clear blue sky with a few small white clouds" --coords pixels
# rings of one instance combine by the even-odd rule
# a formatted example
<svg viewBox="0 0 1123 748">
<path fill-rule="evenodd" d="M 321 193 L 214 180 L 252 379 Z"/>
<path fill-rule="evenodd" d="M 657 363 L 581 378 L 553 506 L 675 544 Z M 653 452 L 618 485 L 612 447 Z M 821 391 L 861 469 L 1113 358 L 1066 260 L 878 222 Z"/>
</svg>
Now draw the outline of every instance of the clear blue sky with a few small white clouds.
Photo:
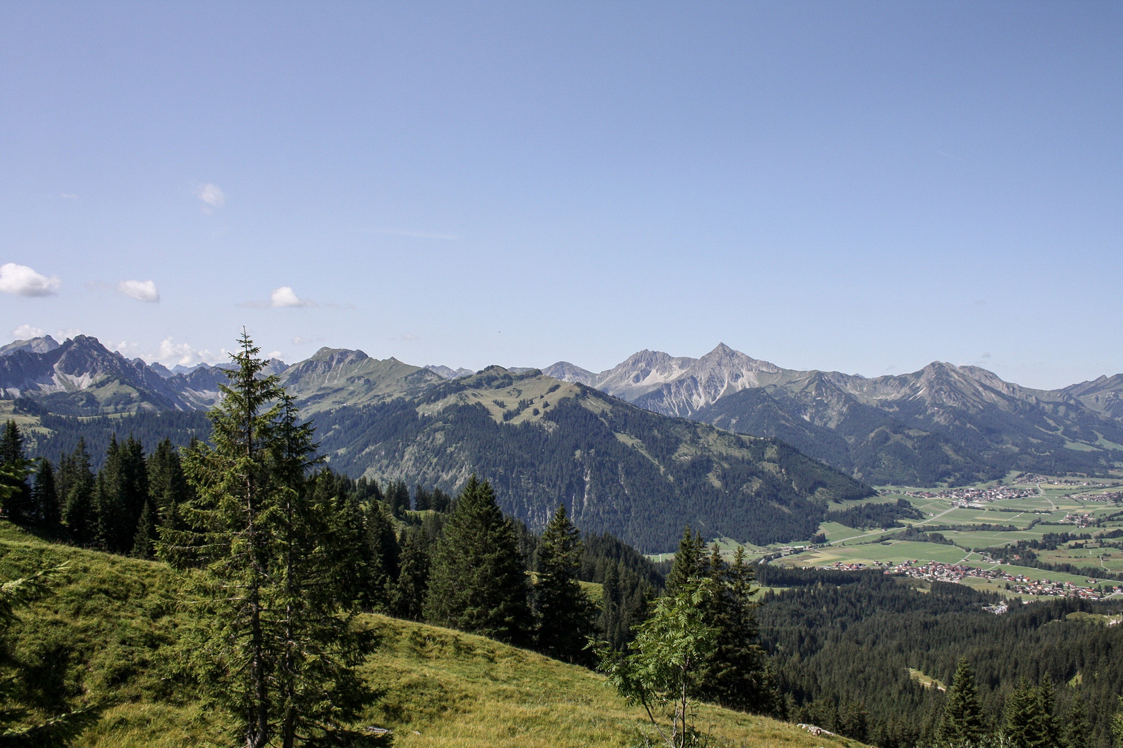
<svg viewBox="0 0 1123 748">
<path fill-rule="evenodd" d="M 1117 2 L 2 3 L 0 132 L 0 336 L 1123 371 Z"/>
</svg>

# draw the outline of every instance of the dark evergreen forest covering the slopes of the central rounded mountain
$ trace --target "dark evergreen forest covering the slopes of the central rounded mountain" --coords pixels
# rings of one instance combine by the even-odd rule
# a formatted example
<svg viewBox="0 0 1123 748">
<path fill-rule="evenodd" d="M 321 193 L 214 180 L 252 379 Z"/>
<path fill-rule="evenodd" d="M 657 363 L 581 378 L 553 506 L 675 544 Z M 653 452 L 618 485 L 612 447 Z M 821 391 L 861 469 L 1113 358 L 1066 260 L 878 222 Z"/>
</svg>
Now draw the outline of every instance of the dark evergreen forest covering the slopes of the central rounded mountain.
<svg viewBox="0 0 1123 748">
<path fill-rule="evenodd" d="M 440 396 L 444 391 L 431 395 Z M 408 469 L 427 484 L 453 491 L 466 467 L 475 465 L 493 483 L 504 511 L 532 527 L 541 528 L 562 500 L 586 532 L 612 533 L 645 552 L 673 548 L 684 517 L 743 542 L 809 538 L 825 500 L 806 496 L 821 491 L 846 500 L 871 490 L 772 440 L 747 440 L 743 456 L 722 461 L 692 454 L 696 424 L 630 406 L 597 414 L 566 398 L 544 419 L 546 428 L 501 424 L 480 405 L 421 415 L 417 404 L 398 398 L 320 414 L 317 424 L 322 449 L 340 472 Z M 643 450 L 621 434 L 639 440 Z M 376 446 L 359 449 L 366 445 Z"/>
</svg>

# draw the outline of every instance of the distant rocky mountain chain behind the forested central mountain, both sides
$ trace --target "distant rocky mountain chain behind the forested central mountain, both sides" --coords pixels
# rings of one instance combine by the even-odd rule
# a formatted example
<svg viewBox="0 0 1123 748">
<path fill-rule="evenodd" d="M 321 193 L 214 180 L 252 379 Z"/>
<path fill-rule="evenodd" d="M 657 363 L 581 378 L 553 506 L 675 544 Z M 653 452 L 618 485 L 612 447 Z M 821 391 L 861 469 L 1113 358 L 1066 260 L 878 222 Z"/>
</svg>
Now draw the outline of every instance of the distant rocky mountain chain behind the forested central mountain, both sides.
<svg viewBox="0 0 1123 748">
<path fill-rule="evenodd" d="M 128 360 L 86 336 L 0 349 L 3 397 L 62 415 L 191 410 L 217 400 L 220 368 L 179 369 Z M 291 366 L 274 361 L 271 371 L 309 414 L 474 376 L 335 349 Z M 1039 390 L 937 361 L 912 373 L 867 378 L 784 369 L 724 344 L 699 359 L 643 350 L 601 372 L 566 361 L 540 375 L 505 371 L 586 386 L 661 416 L 776 437 L 870 484 L 965 483 L 1010 470 L 1106 474 L 1123 467 L 1121 375 Z"/>
</svg>

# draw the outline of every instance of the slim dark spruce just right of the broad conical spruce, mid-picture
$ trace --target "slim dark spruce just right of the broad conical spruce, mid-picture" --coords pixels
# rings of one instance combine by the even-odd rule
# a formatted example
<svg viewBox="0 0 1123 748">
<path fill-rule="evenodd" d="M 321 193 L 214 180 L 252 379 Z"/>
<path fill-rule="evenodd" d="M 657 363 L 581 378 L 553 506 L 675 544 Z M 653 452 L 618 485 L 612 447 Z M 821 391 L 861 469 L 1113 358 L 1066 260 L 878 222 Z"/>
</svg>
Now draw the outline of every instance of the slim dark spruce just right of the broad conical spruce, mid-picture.
<svg viewBox="0 0 1123 748">
<path fill-rule="evenodd" d="M 533 608 L 538 650 L 567 663 L 592 662 L 585 649 L 595 608 L 577 582 L 581 534 L 558 505 L 538 546 Z"/>
</svg>

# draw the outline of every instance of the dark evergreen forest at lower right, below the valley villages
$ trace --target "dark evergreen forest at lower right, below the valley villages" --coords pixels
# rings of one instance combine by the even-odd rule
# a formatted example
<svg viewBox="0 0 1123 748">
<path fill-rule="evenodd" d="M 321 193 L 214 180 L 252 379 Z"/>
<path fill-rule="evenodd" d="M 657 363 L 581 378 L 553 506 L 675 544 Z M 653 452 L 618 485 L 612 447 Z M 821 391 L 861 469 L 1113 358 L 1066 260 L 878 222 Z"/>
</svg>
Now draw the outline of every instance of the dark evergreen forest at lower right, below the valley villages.
<svg viewBox="0 0 1123 748">
<path fill-rule="evenodd" d="M 1054 715 L 1063 719 L 1079 696 L 1092 724 L 1088 745 L 1112 745 L 1123 626 L 1092 613 L 1117 613 L 1123 603 L 1015 601 L 994 615 L 983 608 L 997 595 L 960 584 L 917 590 L 877 572 L 776 566 L 759 567 L 758 579 L 787 588 L 766 594 L 758 616 L 780 687 L 806 721 L 883 748 L 938 745 L 944 693 L 915 676 L 947 686 L 966 658 L 992 733 L 1003 727 L 1019 681 L 1047 678 L 1057 693 Z"/>
</svg>

